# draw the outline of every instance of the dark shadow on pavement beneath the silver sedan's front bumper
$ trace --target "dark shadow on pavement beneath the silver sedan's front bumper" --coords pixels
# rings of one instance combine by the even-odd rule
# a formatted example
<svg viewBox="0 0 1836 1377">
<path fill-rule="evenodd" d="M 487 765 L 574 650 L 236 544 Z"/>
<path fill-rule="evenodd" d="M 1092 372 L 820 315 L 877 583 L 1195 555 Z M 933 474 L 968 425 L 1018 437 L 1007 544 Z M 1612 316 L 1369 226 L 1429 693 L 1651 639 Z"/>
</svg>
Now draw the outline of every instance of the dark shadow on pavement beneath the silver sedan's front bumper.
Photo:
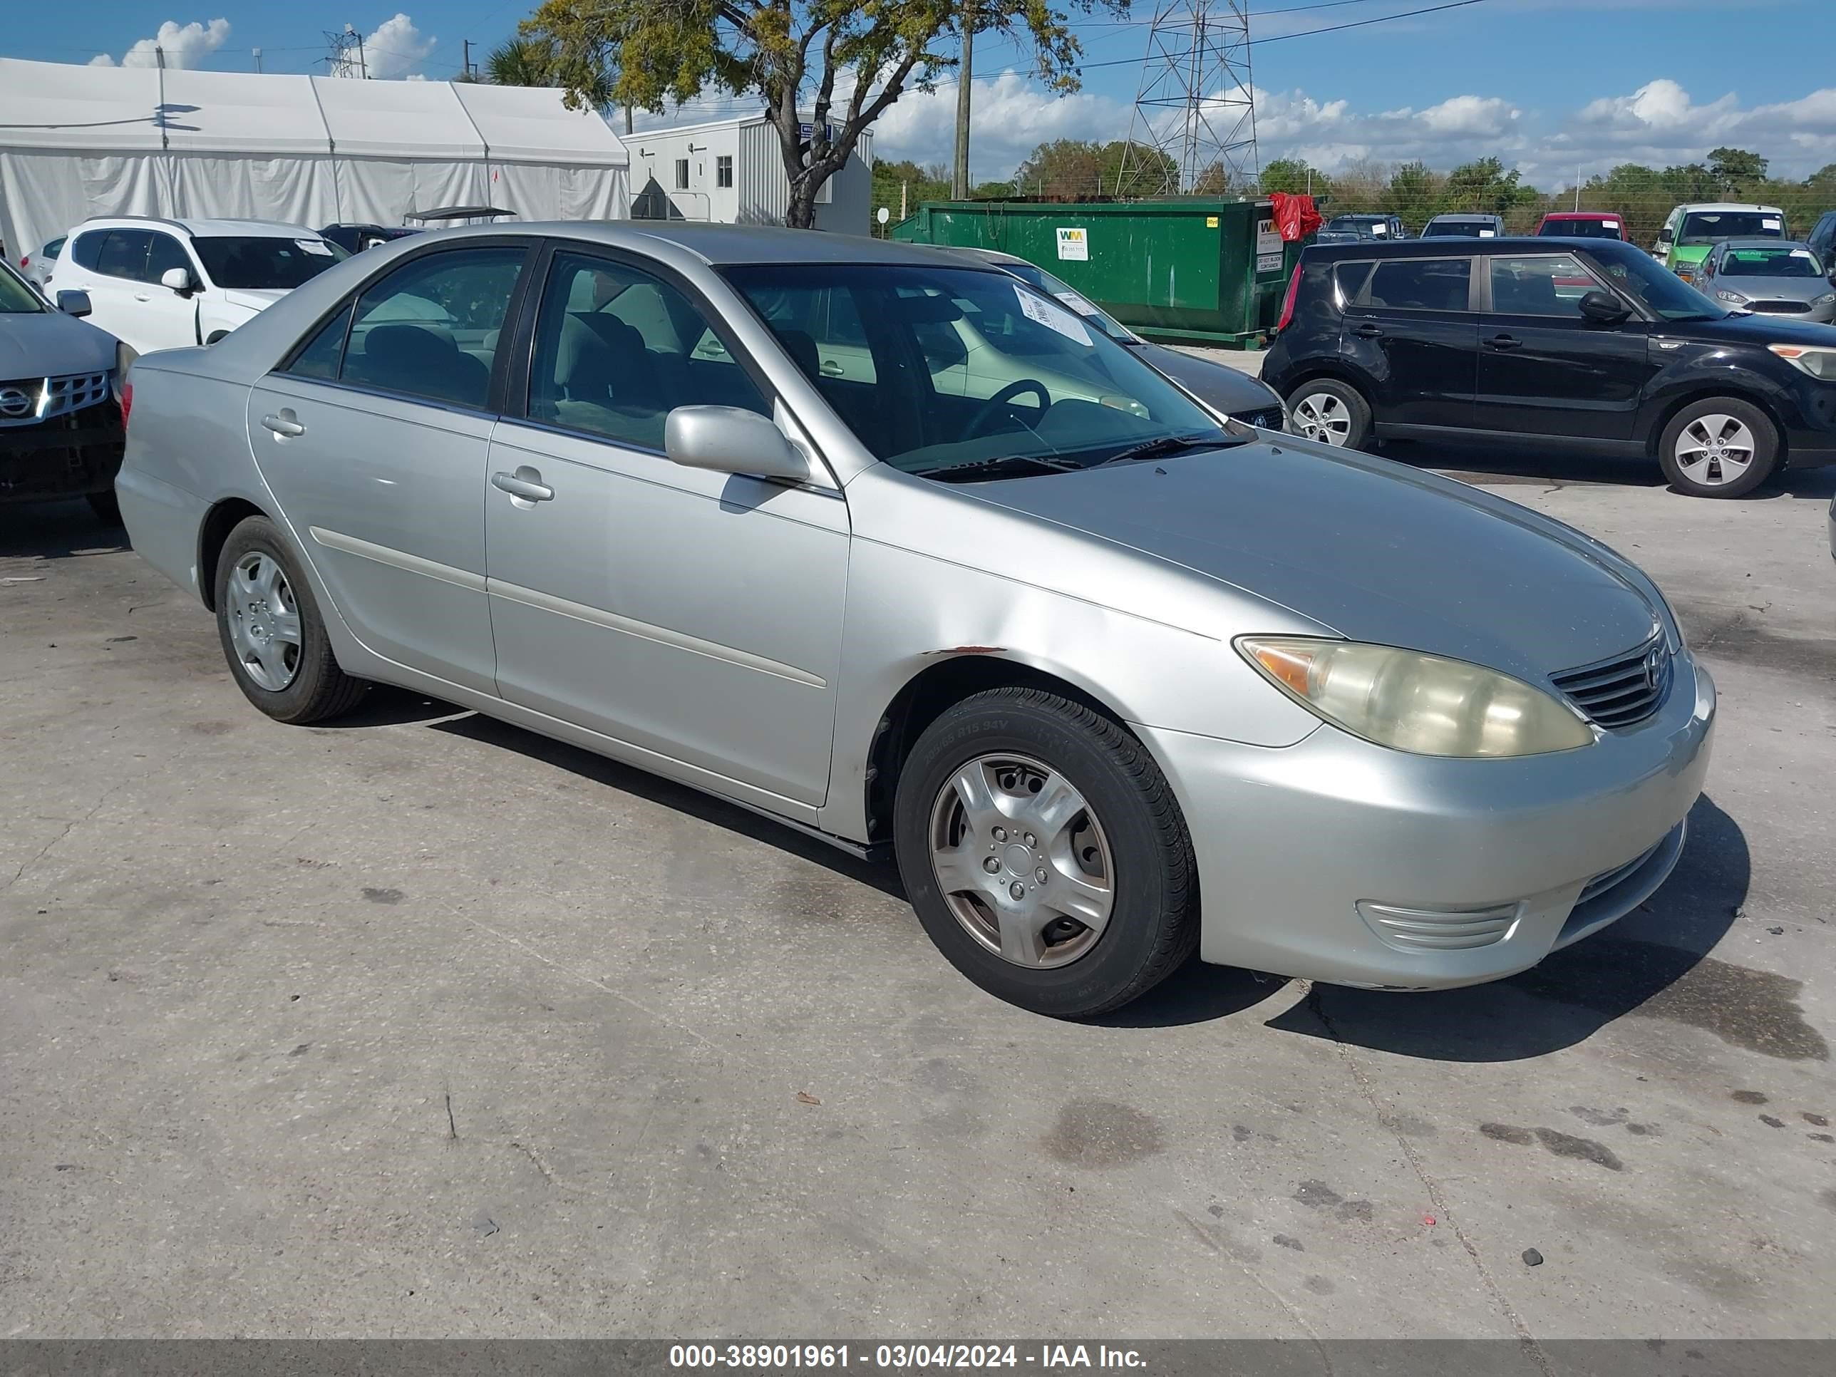
<svg viewBox="0 0 1836 1377">
<path fill-rule="evenodd" d="M 1816 1058 L 1821 1037 L 1790 1001 L 1796 982 L 1709 957 L 1746 900 L 1750 874 L 1741 826 L 1704 795 L 1663 889 L 1606 933 L 1509 980 L 1465 990 L 1315 986 L 1267 1026 L 1434 1061 L 1520 1061 L 1641 1013 L 1755 1050 Z"/>
</svg>

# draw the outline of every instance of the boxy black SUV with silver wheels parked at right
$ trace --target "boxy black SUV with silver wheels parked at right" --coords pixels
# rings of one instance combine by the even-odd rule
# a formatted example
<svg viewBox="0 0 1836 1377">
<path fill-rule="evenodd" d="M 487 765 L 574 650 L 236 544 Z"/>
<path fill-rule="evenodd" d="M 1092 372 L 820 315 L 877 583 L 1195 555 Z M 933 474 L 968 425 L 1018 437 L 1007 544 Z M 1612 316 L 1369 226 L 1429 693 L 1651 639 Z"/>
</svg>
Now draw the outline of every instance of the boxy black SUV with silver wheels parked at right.
<svg viewBox="0 0 1836 1377">
<path fill-rule="evenodd" d="M 1327 444 L 1581 444 L 1702 498 L 1836 463 L 1836 327 L 1731 312 L 1634 244 L 1315 246 L 1276 330 L 1263 380 Z"/>
</svg>

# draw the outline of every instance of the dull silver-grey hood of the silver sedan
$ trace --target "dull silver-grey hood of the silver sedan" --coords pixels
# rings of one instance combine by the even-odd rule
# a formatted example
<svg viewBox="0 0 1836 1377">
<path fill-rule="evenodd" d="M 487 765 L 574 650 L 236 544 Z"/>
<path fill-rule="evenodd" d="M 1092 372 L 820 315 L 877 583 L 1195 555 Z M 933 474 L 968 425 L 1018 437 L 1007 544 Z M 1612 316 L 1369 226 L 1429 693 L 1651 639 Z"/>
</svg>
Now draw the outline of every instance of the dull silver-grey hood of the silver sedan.
<svg viewBox="0 0 1836 1377">
<path fill-rule="evenodd" d="M 1531 681 L 1627 652 L 1663 626 L 1652 600 L 1614 569 L 1616 556 L 1581 532 L 1452 479 L 1304 441 L 973 492 L 1208 575 L 1348 639 Z"/>
</svg>

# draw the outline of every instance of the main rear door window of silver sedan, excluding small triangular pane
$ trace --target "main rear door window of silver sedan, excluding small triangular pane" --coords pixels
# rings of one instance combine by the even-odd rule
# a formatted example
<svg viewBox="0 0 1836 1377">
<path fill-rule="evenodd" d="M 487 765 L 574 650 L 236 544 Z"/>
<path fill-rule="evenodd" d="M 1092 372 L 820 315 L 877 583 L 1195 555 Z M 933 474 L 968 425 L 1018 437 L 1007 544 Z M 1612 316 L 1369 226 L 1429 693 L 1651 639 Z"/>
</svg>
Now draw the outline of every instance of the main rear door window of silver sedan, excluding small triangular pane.
<svg viewBox="0 0 1836 1377">
<path fill-rule="evenodd" d="M 525 257 L 509 246 L 457 248 L 373 283 L 356 301 L 340 380 L 483 409 Z"/>
</svg>

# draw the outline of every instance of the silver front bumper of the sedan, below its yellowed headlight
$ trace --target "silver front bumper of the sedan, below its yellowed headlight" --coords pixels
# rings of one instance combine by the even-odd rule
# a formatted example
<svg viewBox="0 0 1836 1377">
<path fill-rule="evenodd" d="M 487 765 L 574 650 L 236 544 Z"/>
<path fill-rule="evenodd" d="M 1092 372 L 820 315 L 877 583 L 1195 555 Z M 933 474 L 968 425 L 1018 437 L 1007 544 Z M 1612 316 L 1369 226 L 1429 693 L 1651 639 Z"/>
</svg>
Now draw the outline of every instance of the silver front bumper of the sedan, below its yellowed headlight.
<svg viewBox="0 0 1836 1377">
<path fill-rule="evenodd" d="M 1649 898 L 1707 773 L 1715 683 L 1684 654 L 1656 714 L 1581 751 L 1405 755 L 1322 725 L 1265 749 L 1138 727 L 1199 859 L 1199 955 L 1445 990 L 1528 969 Z"/>
</svg>

